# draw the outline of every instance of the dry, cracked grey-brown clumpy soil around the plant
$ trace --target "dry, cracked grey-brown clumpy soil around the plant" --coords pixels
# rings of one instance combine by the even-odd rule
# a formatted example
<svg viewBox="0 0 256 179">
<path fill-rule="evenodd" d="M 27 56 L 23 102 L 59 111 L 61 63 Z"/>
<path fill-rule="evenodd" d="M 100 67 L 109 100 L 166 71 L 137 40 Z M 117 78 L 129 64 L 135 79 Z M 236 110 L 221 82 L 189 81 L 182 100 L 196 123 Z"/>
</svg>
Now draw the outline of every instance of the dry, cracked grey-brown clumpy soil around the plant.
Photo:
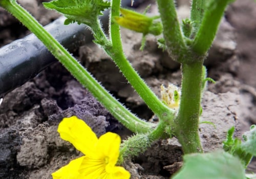
<svg viewBox="0 0 256 179">
<path fill-rule="evenodd" d="M 59 15 L 41 6 L 45 1 L 19 1 L 43 25 Z M 188 1 L 178 1 L 179 15 L 188 14 Z M 152 2 L 149 13 L 157 13 Z M 139 6 L 142 11 L 145 4 Z M 236 136 L 256 124 L 256 3 L 238 0 L 230 5 L 205 61 L 208 76 L 216 80 L 203 95 L 200 136 L 204 150 L 222 147 L 226 132 L 236 126 Z M 29 31 L 0 9 L 0 47 Z M 153 91 L 160 85 L 180 85 L 178 63 L 158 49 L 156 37 L 147 36 L 139 50 L 141 34 L 122 29 L 125 54 Z M 74 51 L 77 51 L 77 49 Z M 95 44 L 89 43 L 74 54 L 115 97 L 140 118 L 150 120 L 152 112 L 119 73 L 116 65 Z M 216 115 L 218 114 L 218 115 Z M 34 79 L 14 89 L 0 105 L 0 178 L 51 178 L 51 173 L 81 155 L 56 131 L 63 117 L 77 116 L 92 127 L 97 136 L 106 131 L 131 135 L 58 62 Z M 148 150 L 125 164 L 132 178 L 169 178 L 182 165 L 182 149 L 175 138 L 155 141 Z M 248 170 L 256 172 L 254 161 Z"/>
</svg>

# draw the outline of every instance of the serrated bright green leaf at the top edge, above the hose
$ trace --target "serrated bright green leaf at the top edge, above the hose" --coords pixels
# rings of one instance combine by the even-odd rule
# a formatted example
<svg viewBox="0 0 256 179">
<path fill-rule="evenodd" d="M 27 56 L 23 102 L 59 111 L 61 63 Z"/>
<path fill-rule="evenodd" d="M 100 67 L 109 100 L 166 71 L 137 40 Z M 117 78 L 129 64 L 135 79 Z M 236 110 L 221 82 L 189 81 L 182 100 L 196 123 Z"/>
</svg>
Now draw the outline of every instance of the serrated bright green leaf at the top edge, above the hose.
<svg viewBox="0 0 256 179">
<path fill-rule="evenodd" d="M 67 17 L 65 24 L 74 23 L 91 25 L 102 15 L 104 9 L 110 7 L 110 2 L 103 0 L 55 0 L 43 3 L 45 8 L 54 9 Z"/>
</svg>

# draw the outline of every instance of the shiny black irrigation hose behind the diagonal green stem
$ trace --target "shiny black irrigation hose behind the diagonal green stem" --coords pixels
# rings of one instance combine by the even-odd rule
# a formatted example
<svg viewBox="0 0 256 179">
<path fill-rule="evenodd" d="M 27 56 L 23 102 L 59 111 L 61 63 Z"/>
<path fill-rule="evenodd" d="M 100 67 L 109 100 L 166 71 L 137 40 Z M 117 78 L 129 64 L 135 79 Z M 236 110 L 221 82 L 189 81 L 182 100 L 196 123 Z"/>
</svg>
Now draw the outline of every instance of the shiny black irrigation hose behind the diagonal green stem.
<svg viewBox="0 0 256 179">
<path fill-rule="evenodd" d="M 134 1 L 138 7 L 145 0 Z M 130 6 L 131 0 L 122 1 L 123 6 Z M 108 12 L 100 16 L 103 26 L 108 26 Z M 45 29 L 50 32 L 68 50 L 77 49 L 81 44 L 90 42 L 92 35 L 85 25 L 63 25 L 65 18 L 60 17 Z M 34 35 L 15 40 L 0 49 L 0 98 L 14 88 L 23 85 L 40 71 L 55 62 L 56 59 Z"/>
</svg>

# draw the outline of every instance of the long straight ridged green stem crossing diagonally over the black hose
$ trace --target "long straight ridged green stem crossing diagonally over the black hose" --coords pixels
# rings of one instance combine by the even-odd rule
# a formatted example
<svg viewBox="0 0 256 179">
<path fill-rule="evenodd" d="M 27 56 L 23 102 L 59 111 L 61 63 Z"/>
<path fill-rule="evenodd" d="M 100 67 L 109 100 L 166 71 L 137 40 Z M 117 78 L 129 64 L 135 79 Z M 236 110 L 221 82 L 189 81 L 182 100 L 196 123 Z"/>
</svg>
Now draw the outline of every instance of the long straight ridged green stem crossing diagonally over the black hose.
<svg viewBox="0 0 256 179">
<path fill-rule="evenodd" d="M 0 5 L 13 14 L 31 32 L 33 32 L 48 50 L 74 75 L 74 77 L 99 100 L 110 113 L 124 126 L 134 132 L 148 132 L 152 124 L 140 120 L 111 94 L 109 94 L 83 66 L 56 41 L 24 8 L 16 1 L 0 0 Z"/>
</svg>

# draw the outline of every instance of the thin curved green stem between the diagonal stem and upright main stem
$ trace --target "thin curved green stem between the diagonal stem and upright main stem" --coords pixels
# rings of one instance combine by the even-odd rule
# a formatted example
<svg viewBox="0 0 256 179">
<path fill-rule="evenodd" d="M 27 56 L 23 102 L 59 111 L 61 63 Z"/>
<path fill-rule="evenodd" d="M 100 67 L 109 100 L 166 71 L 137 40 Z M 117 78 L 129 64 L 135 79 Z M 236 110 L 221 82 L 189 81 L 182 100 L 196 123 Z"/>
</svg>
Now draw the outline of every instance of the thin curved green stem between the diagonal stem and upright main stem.
<svg viewBox="0 0 256 179">
<path fill-rule="evenodd" d="M 112 20 L 115 16 L 120 15 L 120 0 L 112 1 L 111 17 Z M 113 49 L 105 50 L 108 53 L 125 78 L 131 83 L 139 96 L 144 100 L 148 107 L 159 117 L 160 120 L 173 119 L 174 110 L 164 105 L 158 97 L 152 92 L 152 90 L 146 85 L 143 79 L 140 78 L 138 73 L 134 70 L 131 63 L 126 59 L 120 36 L 120 27 L 118 24 L 111 21 L 110 34 Z"/>
</svg>

